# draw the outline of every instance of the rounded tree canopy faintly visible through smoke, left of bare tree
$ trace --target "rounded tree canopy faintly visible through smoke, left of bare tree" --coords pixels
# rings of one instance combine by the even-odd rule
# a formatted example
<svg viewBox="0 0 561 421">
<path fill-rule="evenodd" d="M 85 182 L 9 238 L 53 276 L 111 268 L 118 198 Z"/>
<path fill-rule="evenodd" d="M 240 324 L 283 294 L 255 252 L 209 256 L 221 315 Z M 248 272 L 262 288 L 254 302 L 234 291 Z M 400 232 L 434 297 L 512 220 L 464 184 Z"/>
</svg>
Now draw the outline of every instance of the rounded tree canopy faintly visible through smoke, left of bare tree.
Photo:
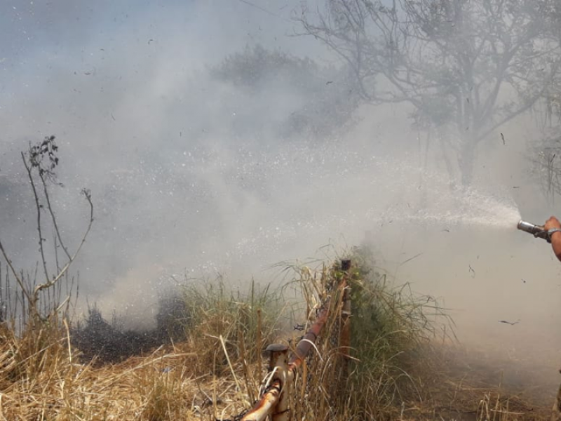
<svg viewBox="0 0 561 421">
<path fill-rule="evenodd" d="M 210 67 L 210 75 L 231 83 L 254 101 L 262 95 L 270 107 L 284 112 L 273 128 L 281 138 L 329 138 L 347 126 L 358 105 L 348 69 L 319 65 L 259 44 L 228 55 Z M 247 126 L 255 130 L 255 124 Z"/>
</svg>

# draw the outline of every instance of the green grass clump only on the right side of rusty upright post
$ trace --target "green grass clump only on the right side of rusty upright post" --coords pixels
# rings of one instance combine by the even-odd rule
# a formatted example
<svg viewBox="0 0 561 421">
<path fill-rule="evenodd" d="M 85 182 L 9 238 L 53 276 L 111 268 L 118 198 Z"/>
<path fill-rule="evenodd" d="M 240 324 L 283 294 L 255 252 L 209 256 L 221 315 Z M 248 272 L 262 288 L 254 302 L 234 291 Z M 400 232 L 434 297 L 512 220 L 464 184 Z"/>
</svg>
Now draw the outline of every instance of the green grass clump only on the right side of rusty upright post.
<svg viewBox="0 0 561 421">
<path fill-rule="evenodd" d="M 426 394 L 421 377 L 431 377 L 432 359 L 426 355 L 435 338 L 453 332 L 447 329 L 452 320 L 435 298 L 413 293 L 408 283 L 394 286 L 386 274 L 374 271 L 364 250 L 356 249 L 353 260 L 353 406 L 369 416 L 377 408 L 422 401 Z"/>
</svg>

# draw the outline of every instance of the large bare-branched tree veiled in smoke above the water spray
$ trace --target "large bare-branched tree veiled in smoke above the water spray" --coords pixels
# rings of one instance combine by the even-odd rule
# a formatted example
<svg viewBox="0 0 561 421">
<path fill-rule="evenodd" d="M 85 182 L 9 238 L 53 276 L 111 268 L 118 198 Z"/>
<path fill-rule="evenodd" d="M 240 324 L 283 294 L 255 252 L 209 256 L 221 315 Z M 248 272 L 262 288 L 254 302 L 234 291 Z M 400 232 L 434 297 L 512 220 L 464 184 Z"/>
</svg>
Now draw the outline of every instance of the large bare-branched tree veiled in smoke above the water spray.
<svg viewBox="0 0 561 421">
<path fill-rule="evenodd" d="M 326 0 L 295 18 L 352 69 L 363 101 L 408 103 L 419 128 L 446 133 L 468 185 L 478 145 L 560 77 L 556 1 Z"/>
</svg>

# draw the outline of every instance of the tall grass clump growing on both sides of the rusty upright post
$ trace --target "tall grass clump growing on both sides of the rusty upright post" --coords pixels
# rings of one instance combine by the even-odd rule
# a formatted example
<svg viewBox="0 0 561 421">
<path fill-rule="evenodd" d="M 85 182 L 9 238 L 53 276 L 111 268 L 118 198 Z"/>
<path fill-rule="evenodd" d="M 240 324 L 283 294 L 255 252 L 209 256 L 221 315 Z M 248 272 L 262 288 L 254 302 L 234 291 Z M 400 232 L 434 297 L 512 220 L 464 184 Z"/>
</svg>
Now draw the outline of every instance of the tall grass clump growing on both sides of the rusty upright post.
<svg viewBox="0 0 561 421">
<path fill-rule="evenodd" d="M 393 286 L 376 272 L 367 250 L 355 248 L 340 262 L 313 271 L 302 267 L 295 281 L 313 322 L 318 309 L 330 315 L 295 385 L 295 417 L 306 420 L 372 420 L 393 417 L 407 402 L 424 399 L 424 352 L 450 320 L 433 298 L 409 286 Z M 344 290 L 351 299 L 351 351 L 342 342 Z M 328 304 L 327 304 L 328 303 Z M 312 409 L 313 408 L 313 409 Z"/>
</svg>

